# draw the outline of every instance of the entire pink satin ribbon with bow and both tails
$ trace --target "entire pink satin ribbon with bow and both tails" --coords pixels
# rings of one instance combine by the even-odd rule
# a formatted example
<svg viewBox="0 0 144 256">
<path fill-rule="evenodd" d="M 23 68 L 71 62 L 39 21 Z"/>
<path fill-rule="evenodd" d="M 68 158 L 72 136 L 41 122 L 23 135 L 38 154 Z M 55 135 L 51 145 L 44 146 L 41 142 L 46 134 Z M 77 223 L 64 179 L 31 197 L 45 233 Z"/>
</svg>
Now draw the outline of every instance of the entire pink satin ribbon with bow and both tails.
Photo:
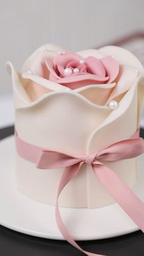
<svg viewBox="0 0 144 256">
<path fill-rule="evenodd" d="M 59 212 L 58 199 L 63 188 L 78 174 L 82 164 L 90 164 L 104 188 L 118 202 L 132 221 L 144 232 L 144 203 L 132 192 L 132 190 L 118 177 L 113 170 L 101 161 L 120 161 L 135 158 L 144 153 L 144 141 L 140 137 L 132 136 L 130 139 L 116 142 L 100 152 L 88 156 L 67 155 L 60 152 L 52 152 L 34 145 L 28 144 L 15 134 L 15 142 L 18 155 L 37 164 L 40 169 L 55 169 L 65 167 L 60 179 L 56 200 L 56 221 L 65 240 L 88 256 L 94 254 L 84 251 L 68 233 Z M 102 255 L 104 256 L 104 255 Z"/>
</svg>

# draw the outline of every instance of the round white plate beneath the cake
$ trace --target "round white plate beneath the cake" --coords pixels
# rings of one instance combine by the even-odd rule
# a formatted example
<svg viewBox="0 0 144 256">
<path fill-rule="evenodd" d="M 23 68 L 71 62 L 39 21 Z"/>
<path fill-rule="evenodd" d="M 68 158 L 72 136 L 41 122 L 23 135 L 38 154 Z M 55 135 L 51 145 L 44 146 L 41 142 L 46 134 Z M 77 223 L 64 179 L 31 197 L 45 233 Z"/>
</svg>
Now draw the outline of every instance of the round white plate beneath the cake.
<svg viewBox="0 0 144 256">
<path fill-rule="evenodd" d="M 31 200 L 16 188 L 13 136 L 0 142 L 0 155 L 0 224 L 27 235 L 63 240 L 56 224 L 55 207 Z M 144 201 L 144 154 L 138 162 L 139 177 L 132 190 Z M 117 203 L 92 210 L 60 208 L 60 212 L 75 240 L 98 240 L 139 230 Z"/>
</svg>

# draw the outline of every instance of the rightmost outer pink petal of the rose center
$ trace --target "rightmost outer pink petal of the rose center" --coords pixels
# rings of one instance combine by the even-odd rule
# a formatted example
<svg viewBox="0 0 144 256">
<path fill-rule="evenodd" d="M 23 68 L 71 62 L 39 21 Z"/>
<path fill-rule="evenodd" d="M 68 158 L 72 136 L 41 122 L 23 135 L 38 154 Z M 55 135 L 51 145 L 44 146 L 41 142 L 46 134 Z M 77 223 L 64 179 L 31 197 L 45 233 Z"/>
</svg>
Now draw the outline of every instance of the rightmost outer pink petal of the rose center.
<svg viewBox="0 0 144 256">
<path fill-rule="evenodd" d="M 109 80 L 107 82 L 113 82 L 115 78 L 117 78 L 118 71 L 119 71 L 119 64 L 116 59 L 112 56 L 104 57 L 101 59 L 105 69 L 106 75 L 109 76 Z"/>
</svg>

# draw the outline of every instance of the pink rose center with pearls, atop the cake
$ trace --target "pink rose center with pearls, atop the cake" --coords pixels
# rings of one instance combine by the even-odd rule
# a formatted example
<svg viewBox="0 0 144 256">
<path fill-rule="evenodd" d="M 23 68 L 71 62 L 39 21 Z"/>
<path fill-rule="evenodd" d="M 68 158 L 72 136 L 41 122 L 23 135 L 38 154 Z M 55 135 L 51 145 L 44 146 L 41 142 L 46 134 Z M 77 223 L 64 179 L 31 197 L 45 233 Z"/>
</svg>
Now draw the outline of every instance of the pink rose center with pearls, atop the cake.
<svg viewBox="0 0 144 256">
<path fill-rule="evenodd" d="M 119 64 L 112 56 L 83 59 L 76 53 L 65 51 L 57 54 L 53 61 L 45 59 L 49 80 L 76 89 L 88 84 L 107 84 L 117 78 Z"/>
</svg>

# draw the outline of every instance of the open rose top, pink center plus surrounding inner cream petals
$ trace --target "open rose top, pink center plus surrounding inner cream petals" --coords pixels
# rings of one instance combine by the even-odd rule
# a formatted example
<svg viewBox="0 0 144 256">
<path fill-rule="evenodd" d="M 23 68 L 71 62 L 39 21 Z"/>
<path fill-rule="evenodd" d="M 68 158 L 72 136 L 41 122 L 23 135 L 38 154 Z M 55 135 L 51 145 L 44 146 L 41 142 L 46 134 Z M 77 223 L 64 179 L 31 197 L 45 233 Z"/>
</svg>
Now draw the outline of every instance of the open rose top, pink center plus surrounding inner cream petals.
<svg viewBox="0 0 144 256">
<path fill-rule="evenodd" d="M 137 67 L 143 72 L 139 61 L 117 46 L 79 53 L 62 51 L 56 45 L 41 46 L 24 63 L 18 77 L 30 101 L 73 89 L 94 104 L 108 106 L 112 100 L 119 102 L 134 84 Z"/>
</svg>

